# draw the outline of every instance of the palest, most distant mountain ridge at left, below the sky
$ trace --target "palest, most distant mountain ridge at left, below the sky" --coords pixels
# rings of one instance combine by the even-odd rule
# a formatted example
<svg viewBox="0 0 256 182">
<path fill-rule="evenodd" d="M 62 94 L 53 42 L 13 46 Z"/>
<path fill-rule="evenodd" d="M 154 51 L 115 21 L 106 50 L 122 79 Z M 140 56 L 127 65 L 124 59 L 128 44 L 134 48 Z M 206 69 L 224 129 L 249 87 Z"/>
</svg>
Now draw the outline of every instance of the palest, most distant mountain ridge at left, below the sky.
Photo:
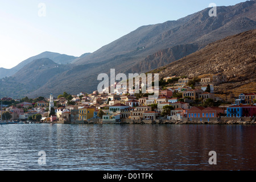
<svg viewBox="0 0 256 182">
<path fill-rule="evenodd" d="M 19 63 L 11 69 L 0 68 L 0 78 L 12 76 L 20 69 L 22 69 L 25 65 L 31 63 L 31 61 L 42 58 L 51 59 L 57 64 L 68 64 L 71 63 L 73 60 L 77 59 L 77 57 L 75 56 L 68 56 L 60 53 L 46 51 L 22 61 L 21 63 Z"/>
</svg>

